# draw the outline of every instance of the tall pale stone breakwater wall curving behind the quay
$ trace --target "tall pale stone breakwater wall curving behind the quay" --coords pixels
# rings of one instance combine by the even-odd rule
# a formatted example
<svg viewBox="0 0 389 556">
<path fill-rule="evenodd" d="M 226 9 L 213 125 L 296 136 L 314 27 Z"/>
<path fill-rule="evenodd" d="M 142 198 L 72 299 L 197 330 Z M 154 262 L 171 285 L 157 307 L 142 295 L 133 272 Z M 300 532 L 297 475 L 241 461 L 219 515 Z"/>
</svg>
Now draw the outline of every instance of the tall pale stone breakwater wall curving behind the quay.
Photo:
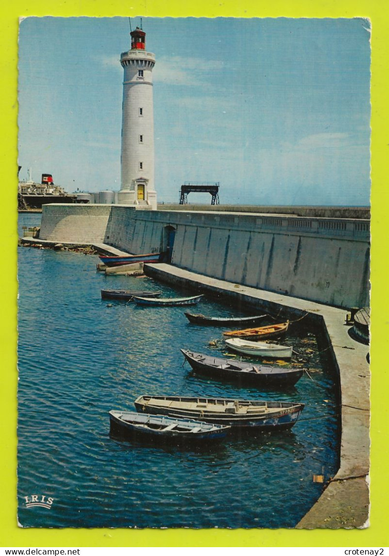
<svg viewBox="0 0 389 556">
<path fill-rule="evenodd" d="M 340 307 L 369 304 L 370 222 L 228 212 L 46 205 L 41 239 L 166 251 L 205 276 Z"/>
</svg>

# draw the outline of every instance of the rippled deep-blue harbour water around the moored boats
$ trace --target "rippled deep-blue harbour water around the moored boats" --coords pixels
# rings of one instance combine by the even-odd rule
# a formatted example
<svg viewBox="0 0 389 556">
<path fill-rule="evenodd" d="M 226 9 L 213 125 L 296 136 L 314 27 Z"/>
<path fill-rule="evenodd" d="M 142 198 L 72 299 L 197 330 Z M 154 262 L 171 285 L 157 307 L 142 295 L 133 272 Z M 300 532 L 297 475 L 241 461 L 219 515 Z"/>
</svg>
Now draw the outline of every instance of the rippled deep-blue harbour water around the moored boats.
<svg viewBox="0 0 389 556">
<path fill-rule="evenodd" d="M 20 232 L 39 218 L 20 215 Z M 21 525 L 294 527 L 324 489 L 314 475 L 327 481 L 339 466 L 337 381 L 314 331 L 291 326 L 282 341 L 309 361 L 309 374 L 289 390 L 238 388 L 195 375 L 180 347 L 223 356 L 223 329 L 191 325 L 184 311 L 240 316 L 241 307 L 206 297 L 195 308 L 102 300 L 101 289 L 183 292 L 148 277 L 105 276 L 98 262 L 97 255 L 18 248 Z M 142 394 L 306 405 L 289 431 L 231 437 L 203 449 L 110 438 L 108 411 L 134 410 Z"/>
</svg>

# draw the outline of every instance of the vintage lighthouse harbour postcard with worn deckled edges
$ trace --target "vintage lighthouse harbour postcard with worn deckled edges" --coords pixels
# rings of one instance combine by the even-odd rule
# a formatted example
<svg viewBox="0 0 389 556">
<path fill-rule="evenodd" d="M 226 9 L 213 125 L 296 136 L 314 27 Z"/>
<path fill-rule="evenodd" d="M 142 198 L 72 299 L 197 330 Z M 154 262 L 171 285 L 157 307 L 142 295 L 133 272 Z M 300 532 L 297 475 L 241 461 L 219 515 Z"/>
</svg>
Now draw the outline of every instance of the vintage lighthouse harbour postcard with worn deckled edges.
<svg viewBox="0 0 389 556">
<path fill-rule="evenodd" d="M 20 532 L 371 534 L 371 35 L 20 18 Z"/>
</svg>

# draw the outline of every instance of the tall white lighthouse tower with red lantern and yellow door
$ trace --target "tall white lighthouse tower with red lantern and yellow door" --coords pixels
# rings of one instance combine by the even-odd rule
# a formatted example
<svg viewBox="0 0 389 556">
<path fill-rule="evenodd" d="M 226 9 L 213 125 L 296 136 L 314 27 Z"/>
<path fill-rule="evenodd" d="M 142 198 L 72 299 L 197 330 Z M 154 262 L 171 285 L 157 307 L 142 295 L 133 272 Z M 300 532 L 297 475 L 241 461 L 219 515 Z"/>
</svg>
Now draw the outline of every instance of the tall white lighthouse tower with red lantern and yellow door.
<svg viewBox="0 0 389 556">
<path fill-rule="evenodd" d="M 154 190 L 153 67 L 146 52 L 146 33 L 130 33 L 131 49 L 122 52 L 124 68 L 122 116 L 122 180 L 118 203 L 156 210 Z"/>
</svg>

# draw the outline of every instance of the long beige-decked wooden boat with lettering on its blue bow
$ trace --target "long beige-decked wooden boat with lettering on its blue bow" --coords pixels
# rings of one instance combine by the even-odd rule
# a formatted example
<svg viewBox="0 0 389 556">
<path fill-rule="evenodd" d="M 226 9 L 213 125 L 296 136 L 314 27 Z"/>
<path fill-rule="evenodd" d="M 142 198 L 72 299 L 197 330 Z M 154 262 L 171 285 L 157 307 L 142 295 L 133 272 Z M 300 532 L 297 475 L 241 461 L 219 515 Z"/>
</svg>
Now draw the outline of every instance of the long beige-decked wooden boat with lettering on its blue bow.
<svg viewBox="0 0 389 556">
<path fill-rule="evenodd" d="M 139 396 L 134 404 L 139 413 L 199 419 L 205 423 L 264 431 L 291 428 L 304 409 L 304 404 L 287 401 L 187 396 Z"/>
</svg>

